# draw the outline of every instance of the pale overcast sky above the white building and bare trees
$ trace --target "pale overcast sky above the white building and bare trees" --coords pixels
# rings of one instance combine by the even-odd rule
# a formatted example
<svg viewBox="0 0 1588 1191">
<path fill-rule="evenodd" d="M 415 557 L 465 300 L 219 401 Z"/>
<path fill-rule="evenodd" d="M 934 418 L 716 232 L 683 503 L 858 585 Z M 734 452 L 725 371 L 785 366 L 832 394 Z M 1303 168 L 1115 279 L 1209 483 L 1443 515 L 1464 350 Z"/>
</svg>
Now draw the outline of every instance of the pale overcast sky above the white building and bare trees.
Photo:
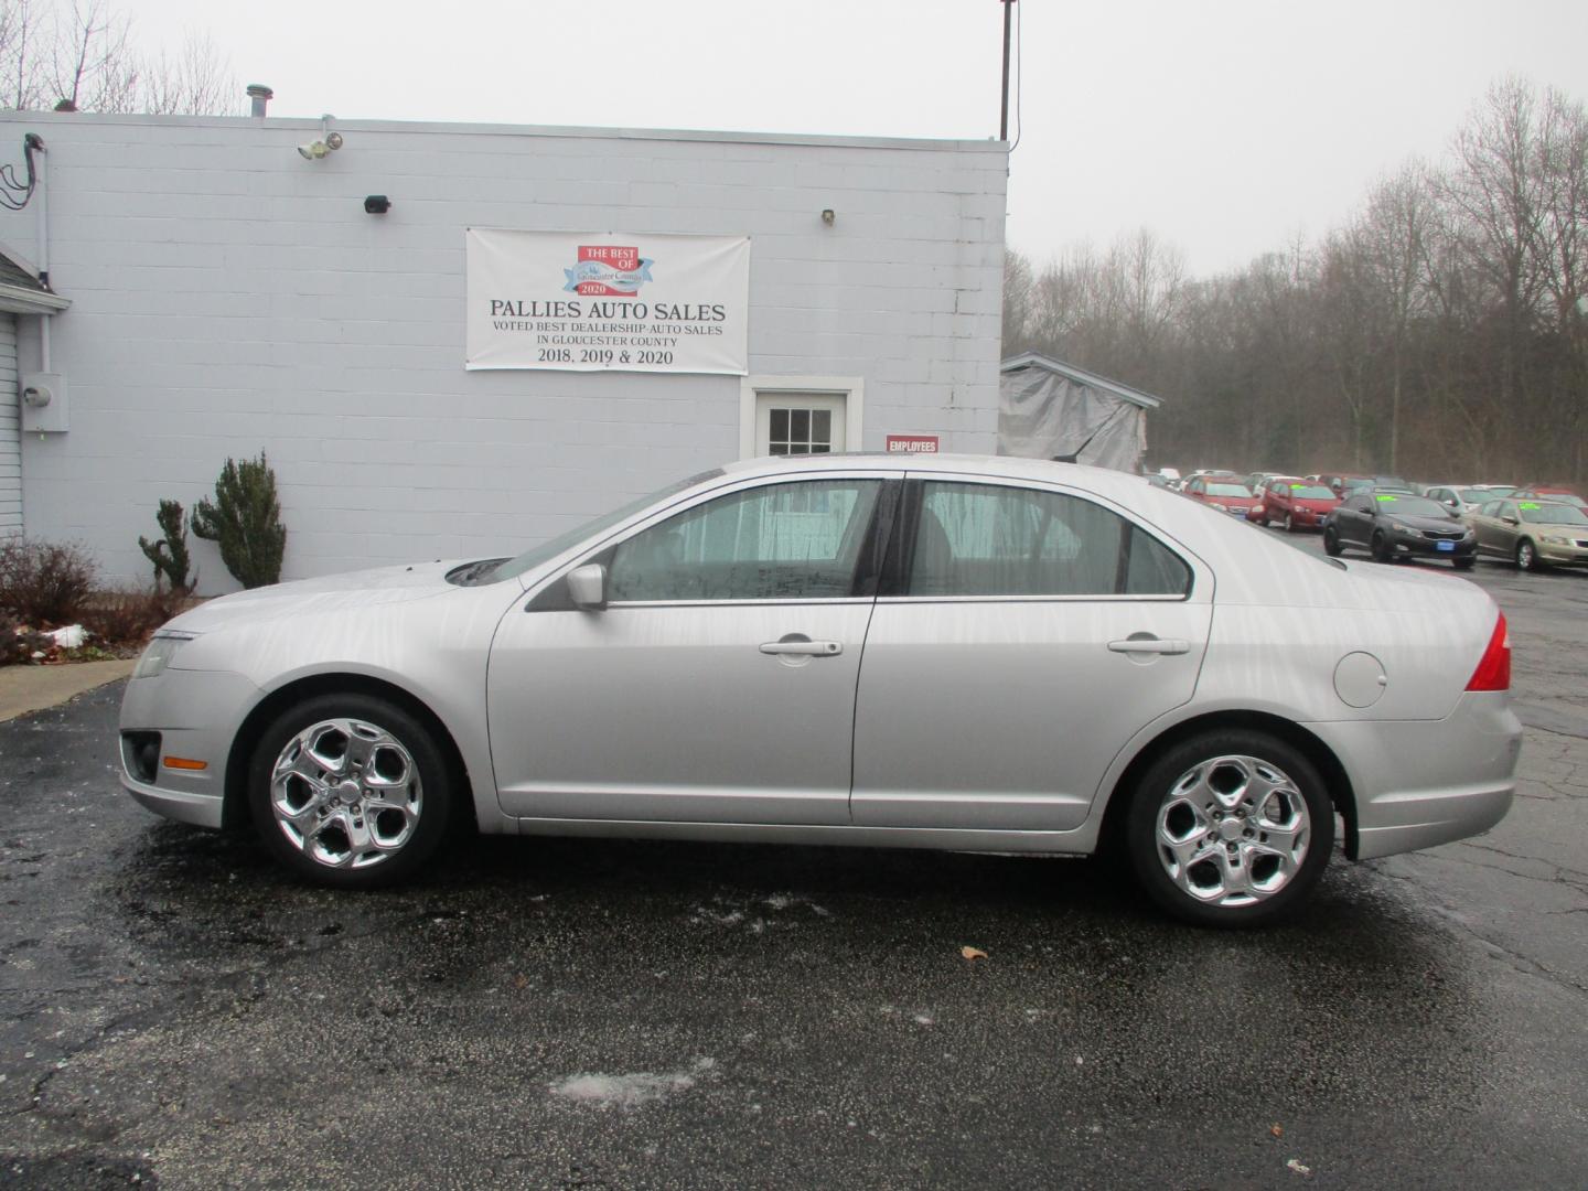
<svg viewBox="0 0 1588 1191">
<path fill-rule="evenodd" d="M 997 135 L 999 0 L 137 0 L 275 116 Z M 1588 98 L 1588 0 L 1019 0 L 1008 243 L 1150 227 L 1193 273 L 1336 225 L 1501 75 Z M 1013 116 L 1012 116 L 1013 122 Z M 1012 137 L 1015 129 L 1012 127 Z"/>
</svg>

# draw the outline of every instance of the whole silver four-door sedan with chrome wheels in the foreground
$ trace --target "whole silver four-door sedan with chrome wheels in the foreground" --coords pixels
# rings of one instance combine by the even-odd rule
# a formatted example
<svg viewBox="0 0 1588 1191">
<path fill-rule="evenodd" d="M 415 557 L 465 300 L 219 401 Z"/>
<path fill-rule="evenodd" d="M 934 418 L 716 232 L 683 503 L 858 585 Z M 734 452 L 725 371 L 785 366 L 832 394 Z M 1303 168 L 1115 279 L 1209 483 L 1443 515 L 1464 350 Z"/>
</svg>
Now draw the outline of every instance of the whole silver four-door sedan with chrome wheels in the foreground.
<svg viewBox="0 0 1588 1191">
<path fill-rule="evenodd" d="M 167 624 L 122 781 L 305 877 L 480 831 L 1093 853 L 1183 918 L 1299 905 L 1507 810 L 1493 600 L 1328 562 L 1139 476 L 734 464 L 515 559 L 286 583 Z"/>
</svg>

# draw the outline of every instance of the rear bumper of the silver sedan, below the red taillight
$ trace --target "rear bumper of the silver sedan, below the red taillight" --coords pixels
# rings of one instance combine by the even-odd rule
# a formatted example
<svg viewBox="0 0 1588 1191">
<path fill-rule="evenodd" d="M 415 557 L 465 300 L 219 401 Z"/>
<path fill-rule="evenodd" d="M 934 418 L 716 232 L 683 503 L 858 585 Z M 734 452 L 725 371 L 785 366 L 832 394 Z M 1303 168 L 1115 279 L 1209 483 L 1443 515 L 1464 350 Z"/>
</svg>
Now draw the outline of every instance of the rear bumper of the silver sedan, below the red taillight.
<svg viewBox="0 0 1588 1191">
<path fill-rule="evenodd" d="M 1307 724 L 1356 794 L 1350 856 L 1367 861 L 1480 835 L 1510 808 L 1521 721 L 1509 691 L 1467 691 L 1443 719 Z"/>
</svg>

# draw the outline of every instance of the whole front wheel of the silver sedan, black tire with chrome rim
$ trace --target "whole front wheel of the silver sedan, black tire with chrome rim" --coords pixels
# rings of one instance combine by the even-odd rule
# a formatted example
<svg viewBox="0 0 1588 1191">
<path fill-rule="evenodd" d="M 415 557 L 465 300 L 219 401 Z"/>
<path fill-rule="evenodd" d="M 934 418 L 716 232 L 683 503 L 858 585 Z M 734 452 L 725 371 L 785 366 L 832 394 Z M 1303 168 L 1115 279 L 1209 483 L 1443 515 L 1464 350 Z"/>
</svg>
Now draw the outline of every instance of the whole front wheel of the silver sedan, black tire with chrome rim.
<svg viewBox="0 0 1588 1191">
<path fill-rule="evenodd" d="M 249 761 L 248 805 L 265 850 L 299 877 L 335 889 L 413 877 L 446 837 L 454 802 L 451 767 L 432 732 L 375 696 L 299 703 L 265 729 Z M 318 816 L 308 819 L 311 831 L 291 823 L 294 810 Z"/>
</svg>

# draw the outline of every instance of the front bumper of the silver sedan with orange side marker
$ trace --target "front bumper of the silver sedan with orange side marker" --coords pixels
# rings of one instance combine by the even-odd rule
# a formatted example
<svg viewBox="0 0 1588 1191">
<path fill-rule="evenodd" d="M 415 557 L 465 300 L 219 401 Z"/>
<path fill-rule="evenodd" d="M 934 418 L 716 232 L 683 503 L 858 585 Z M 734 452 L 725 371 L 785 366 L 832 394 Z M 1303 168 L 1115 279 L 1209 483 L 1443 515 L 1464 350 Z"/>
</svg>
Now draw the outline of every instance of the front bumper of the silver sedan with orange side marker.
<svg viewBox="0 0 1588 1191">
<path fill-rule="evenodd" d="M 222 826 L 232 738 L 262 697 L 248 678 L 224 670 L 167 667 L 154 678 L 133 678 L 121 699 L 121 784 L 156 815 L 198 827 Z M 159 735 L 149 767 L 135 757 L 143 734 Z M 203 762 L 203 769 L 172 769 L 167 761 L 173 757 Z"/>
</svg>

